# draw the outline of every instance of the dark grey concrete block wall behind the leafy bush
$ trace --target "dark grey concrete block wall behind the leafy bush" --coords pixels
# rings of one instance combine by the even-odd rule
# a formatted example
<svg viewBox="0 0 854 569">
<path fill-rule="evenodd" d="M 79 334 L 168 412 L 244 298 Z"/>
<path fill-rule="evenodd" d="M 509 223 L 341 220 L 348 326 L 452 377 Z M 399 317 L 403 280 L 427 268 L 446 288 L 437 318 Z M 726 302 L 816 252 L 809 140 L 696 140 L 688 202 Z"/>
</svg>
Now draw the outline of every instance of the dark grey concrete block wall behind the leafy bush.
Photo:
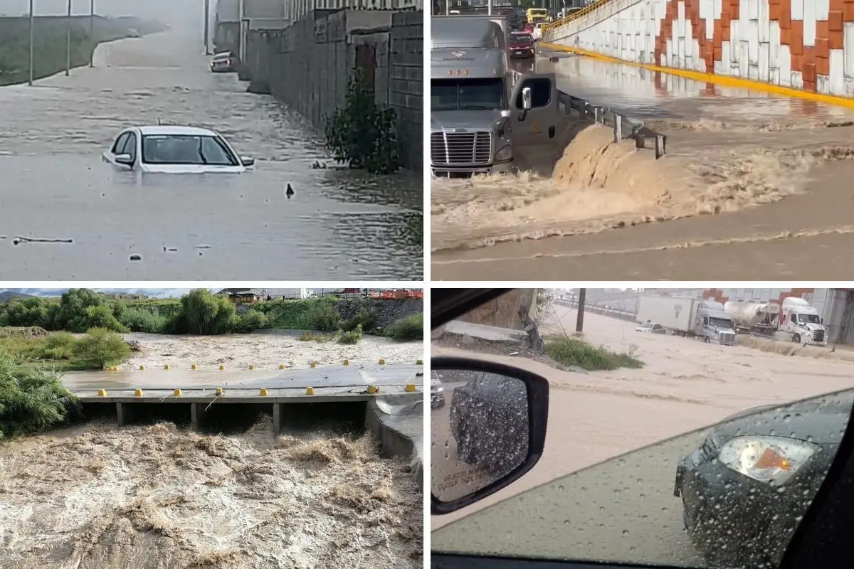
<svg viewBox="0 0 854 569">
<path fill-rule="evenodd" d="M 247 37 L 246 65 L 256 84 L 322 130 L 343 106 L 354 67 L 374 86 L 377 103 L 397 112 L 401 165 L 423 166 L 424 12 L 313 10 L 284 30 Z"/>
</svg>

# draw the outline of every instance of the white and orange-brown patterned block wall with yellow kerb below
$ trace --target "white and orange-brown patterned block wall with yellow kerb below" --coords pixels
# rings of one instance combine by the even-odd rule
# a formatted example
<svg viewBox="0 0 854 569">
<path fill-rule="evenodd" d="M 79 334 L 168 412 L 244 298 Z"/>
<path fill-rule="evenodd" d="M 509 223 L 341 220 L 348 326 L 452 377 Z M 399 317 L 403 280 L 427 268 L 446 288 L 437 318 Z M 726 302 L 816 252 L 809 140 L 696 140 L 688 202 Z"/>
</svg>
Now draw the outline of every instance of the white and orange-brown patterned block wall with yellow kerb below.
<svg viewBox="0 0 854 569">
<path fill-rule="evenodd" d="M 544 39 L 626 61 L 854 96 L 854 0 L 611 0 Z"/>
</svg>

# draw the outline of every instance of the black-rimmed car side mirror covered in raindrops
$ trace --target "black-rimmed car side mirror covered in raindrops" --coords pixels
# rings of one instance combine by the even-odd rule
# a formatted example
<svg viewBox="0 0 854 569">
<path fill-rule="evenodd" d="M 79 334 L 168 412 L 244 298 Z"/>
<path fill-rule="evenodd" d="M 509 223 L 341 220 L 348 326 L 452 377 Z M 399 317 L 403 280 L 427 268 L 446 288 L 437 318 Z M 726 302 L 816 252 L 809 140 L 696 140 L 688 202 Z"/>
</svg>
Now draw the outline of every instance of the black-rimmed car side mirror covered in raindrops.
<svg viewBox="0 0 854 569">
<path fill-rule="evenodd" d="M 491 496 L 539 462 L 546 444 L 548 380 L 467 357 L 433 357 L 450 404 L 430 410 L 430 513 Z"/>
</svg>

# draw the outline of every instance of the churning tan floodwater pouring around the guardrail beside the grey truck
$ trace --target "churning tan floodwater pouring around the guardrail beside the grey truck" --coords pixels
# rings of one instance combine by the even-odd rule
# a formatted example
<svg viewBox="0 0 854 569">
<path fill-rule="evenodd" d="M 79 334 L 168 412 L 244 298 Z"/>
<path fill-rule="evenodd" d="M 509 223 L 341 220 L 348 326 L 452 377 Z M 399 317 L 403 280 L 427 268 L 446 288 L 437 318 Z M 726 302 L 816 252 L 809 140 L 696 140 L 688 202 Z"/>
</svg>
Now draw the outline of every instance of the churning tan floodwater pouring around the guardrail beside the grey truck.
<svg viewBox="0 0 854 569">
<path fill-rule="evenodd" d="M 815 178 L 822 165 L 854 154 L 850 122 L 797 115 L 769 120 L 749 113 L 711 119 L 716 108 L 728 107 L 691 102 L 704 106 L 703 112 L 689 113 L 699 119 L 646 123 L 668 136 L 662 160 L 655 160 L 651 148 L 636 151 L 634 141 L 614 144 L 608 127 L 566 119 L 551 160 L 545 147 L 525 149 L 531 156 L 520 156 L 524 171 L 516 176 L 433 181 L 433 251 L 755 208 L 814 191 L 821 186 Z M 536 165 L 542 162 L 551 164 Z M 725 234 L 676 231 L 670 246 L 699 245 Z"/>
</svg>

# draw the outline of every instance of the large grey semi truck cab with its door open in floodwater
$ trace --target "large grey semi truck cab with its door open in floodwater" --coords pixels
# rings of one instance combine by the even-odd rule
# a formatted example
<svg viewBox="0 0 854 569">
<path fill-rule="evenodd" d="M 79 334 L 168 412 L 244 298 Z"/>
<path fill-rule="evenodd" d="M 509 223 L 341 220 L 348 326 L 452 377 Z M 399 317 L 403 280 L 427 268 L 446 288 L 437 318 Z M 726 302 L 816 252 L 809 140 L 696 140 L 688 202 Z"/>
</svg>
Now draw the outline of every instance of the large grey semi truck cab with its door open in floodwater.
<svg viewBox="0 0 854 569">
<path fill-rule="evenodd" d="M 554 73 L 510 66 L 506 15 L 430 18 L 430 172 L 471 177 L 513 171 L 513 146 L 552 142 Z"/>
</svg>

